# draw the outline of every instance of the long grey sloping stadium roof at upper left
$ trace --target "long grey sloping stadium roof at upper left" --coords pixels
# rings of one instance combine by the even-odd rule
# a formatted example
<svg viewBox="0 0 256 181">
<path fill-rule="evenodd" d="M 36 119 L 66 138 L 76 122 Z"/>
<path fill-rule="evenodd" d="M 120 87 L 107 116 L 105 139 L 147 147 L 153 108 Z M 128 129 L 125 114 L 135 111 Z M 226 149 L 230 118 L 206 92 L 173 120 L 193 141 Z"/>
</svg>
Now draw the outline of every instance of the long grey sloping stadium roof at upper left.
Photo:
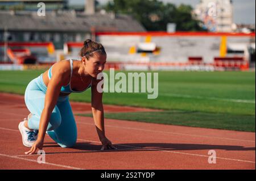
<svg viewBox="0 0 256 181">
<path fill-rule="evenodd" d="M 46 11 L 38 16 L 35 11 L 0 11 L 0 31 L 62 31 L 62 32 L 144 32 L 145 28 L 127 15 L 93 14 L 76 11 Z"/>
</svg>

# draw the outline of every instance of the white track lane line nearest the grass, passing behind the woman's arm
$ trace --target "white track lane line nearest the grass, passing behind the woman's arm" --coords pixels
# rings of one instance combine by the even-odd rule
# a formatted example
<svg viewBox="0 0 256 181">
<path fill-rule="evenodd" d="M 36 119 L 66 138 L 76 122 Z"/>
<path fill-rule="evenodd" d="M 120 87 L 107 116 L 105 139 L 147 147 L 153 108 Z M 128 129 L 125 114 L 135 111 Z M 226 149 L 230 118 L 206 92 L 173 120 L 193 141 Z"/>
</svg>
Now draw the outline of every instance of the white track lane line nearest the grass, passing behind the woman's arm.
<svg viewBox="0 0 256 181">
<path fill-rule="evenodd" d="M 94 126 L 94 124 L 92 124 L 92 123 L 84 123 L 84 122 L 81 122 L 81 121 L 76 121 L 76 123 L 86 124 L 86 125 L 93 125 Z M 222 139 L 222 140 L 255 142 L 253 140 L 240 140 L 240 139 L 234 139 L 234 138 L 224 138 L 224 137 L 216 137 L 216 136 L 204 136 L 204 135 L 197 135 L 197 134 L 185 134 L 185 133 L 175 133 L 175 132 L 154 131 L 154 130 L 151 130 L 151 129 L 119 127 L 119 126 L 113 126 L 113 125 L 105 125 L 105 127 L 122 128 L 122 129 L 133 129 L 133 130 L 137 130 L 137 131 L 146 131 L 146 132 L 155 132 L 155 133 L 164 133 L 164 134 L 177 134 L 177 135 L 182 135 L 182 136 L 195 136 L 195 137 L 217 138 L 217 139 Z"/>
</svg>

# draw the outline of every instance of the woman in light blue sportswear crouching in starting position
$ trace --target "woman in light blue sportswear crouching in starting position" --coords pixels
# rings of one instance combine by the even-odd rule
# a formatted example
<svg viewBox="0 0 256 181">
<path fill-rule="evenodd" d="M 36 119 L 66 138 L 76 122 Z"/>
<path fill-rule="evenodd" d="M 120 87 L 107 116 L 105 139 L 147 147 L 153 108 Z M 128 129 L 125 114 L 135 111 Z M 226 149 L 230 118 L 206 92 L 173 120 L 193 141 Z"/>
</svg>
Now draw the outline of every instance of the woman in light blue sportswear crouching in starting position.
<svg viewBox="0 0 256 181">
<path fill-rule="evenodd" d="M 33 79 L 27 86 L 24 98 L 31 112 L 19 123 L 24 146 L 31 147 L 25 154 L 43 149 L 46 133 L 62 148 L 76 144 L 77 127 L 69 103 L 71 92 L 92 89 L 92 113 L 103 149 L 116 149 L 105 136 L 102 93 L 97 91 L 97 74 L 106 63 L 104 47 L 91 40 L 80 50 L 81 60 L 63 60 Z"/>
</svg>

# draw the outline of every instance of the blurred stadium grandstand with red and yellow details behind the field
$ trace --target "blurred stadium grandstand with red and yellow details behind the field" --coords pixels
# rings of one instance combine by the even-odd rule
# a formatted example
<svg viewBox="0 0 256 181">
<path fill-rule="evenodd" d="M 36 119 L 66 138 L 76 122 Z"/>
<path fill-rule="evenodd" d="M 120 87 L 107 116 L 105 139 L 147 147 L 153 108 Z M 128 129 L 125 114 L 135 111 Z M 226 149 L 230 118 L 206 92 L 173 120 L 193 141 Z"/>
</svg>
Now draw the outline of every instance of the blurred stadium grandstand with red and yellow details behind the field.
<svg viewBox="0 0 256 181">
<path fill-rule="evenodd" d="M 107 69 L 255 68 L 255 33 L 147 32 L 132 16 L 96 12 L 93 0 L 86 3 L 84 11 L 65 10 L 67 1 L 49 2 L 61 4 L 61 8 L 46 11 L 45 16 L 37 11 L 0 11 L 1 64 L 77 59 L 82 42 L 92 39 L 104 45 Z"/>
</svg>

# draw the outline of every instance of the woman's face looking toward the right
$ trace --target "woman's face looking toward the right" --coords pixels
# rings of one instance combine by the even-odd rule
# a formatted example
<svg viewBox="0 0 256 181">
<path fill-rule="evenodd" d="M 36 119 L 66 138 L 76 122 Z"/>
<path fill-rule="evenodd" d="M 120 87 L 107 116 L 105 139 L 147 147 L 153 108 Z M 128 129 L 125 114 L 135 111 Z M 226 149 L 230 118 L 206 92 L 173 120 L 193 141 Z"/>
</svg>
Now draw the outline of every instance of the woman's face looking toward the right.
<svg viewBox="0 0 256 181">
<path fill-rule="evenodd" d="M 89 60 L 82 57 L 82 62 L 85 65 L 86 73 L 96 78 L 98 73 L 101 73 L 104 70 L 106 54 L 94 53 L 94 56 L 90 57 Z"/>
</svg>

